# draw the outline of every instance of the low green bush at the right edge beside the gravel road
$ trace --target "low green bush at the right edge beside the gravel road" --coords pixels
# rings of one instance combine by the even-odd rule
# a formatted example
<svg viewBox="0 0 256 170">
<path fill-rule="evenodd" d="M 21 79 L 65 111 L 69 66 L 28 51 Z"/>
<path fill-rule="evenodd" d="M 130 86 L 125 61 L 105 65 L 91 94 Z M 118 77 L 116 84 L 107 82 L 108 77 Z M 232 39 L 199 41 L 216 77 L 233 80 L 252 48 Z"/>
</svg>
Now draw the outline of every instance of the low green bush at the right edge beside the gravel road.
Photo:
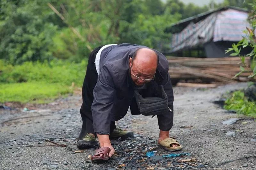
<svg viewBox="0 0 256 170">
<path fill-rule="evenodd" d="M 236 91 L 225 101 L 225 109 L 235 110 L 236 113 L 256 118 L 256 103 L 248 101 L 244 92 Z"/>
</svg>

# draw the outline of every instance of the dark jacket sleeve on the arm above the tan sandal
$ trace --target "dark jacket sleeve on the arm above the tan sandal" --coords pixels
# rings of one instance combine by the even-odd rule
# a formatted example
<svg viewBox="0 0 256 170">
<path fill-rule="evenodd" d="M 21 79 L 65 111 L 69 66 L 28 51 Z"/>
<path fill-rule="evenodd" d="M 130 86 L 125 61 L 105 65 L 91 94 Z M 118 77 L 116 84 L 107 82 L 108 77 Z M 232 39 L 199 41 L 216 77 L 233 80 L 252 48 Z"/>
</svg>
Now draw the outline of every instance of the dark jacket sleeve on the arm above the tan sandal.
<svg viewBox="0 0 256 170">
<path fill-rule="evenodd" d="M 168 96 L 168 106 L 171 110 L 163 115 L 158 115 L 157 119 L 159 129 L 169 131 L 173 126 L 173 90 L 169 73 L 167 72 L 163 77 L 164 80 L 162 85 L 164 87 L 165 93 Z"/>
</svg>

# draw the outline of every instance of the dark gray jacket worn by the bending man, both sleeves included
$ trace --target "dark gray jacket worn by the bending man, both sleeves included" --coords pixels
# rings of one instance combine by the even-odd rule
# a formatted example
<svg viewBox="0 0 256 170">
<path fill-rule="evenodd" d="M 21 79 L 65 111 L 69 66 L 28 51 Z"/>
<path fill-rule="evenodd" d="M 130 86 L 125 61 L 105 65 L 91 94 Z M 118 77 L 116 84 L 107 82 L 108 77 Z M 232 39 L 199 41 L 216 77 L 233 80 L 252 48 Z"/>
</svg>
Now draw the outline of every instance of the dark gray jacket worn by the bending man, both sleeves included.
<svg viewBox="0 0 256 170">
<path fill-rule="evenodd" d="M 131 86 L 129 77 L 129 58 L 132 57 L 138 48 L 148 48 L 135 44 L 120 44 L 105 48 L 100 55 L 100 74 L 97 84 L 93 90 L 92 118 L 94 132 L 108 132 L 110 121 L 117 121 L 124 117 L 131 104 L 134 89 Z M 153 49 L 154 50 L 154 49 Z M 156 51 L 156 50 L 155 50 Z M 166 57 L 156 51 L 159 55 L 155 80 L 164 86 L 168 96 L 168 103 L 173 110 L 173 91 L 169 65 Z M 150 88 L 148 86 L 148 88 Z M 131 108 L 132 114 L 133 111 Z M 161 130 L 172 128 L 173 112 L 158 115 L 158 125 Z"/>
</svg>

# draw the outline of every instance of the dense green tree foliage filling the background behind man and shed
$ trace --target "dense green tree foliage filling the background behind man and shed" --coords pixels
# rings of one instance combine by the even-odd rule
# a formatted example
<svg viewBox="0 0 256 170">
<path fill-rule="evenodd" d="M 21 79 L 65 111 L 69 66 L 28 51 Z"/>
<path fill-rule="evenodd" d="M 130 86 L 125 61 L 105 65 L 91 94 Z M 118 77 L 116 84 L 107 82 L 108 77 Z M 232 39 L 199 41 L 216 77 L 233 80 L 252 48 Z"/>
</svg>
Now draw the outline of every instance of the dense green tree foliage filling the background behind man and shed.
<svg viewBox="0 0 256 170">
<path fill-rule="evenodd" d="M 164 50 L 167 26 L 209 9 L 180 0 L 1 0 L 0 59 L 79 62 L 96 46 L 123 42 Z"/>
</svg>

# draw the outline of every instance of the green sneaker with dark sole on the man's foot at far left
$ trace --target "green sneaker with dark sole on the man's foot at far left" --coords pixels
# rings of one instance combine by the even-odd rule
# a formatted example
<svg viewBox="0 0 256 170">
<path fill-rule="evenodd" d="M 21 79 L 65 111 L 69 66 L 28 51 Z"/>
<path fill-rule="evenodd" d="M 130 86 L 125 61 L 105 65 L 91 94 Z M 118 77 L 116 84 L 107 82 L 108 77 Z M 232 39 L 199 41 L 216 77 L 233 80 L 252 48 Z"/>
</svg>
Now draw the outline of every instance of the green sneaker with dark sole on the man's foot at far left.
<svg viewBox="0 0 256 170">
<path fill-rule="evenodd" d="M 82 140 L 77 141 L 76 147 L 78 149 L 88 149 L 93 148 L 98 145 L 96 137 L 91 134 L 85 134 L 85 137 Z"/>
</svg>

